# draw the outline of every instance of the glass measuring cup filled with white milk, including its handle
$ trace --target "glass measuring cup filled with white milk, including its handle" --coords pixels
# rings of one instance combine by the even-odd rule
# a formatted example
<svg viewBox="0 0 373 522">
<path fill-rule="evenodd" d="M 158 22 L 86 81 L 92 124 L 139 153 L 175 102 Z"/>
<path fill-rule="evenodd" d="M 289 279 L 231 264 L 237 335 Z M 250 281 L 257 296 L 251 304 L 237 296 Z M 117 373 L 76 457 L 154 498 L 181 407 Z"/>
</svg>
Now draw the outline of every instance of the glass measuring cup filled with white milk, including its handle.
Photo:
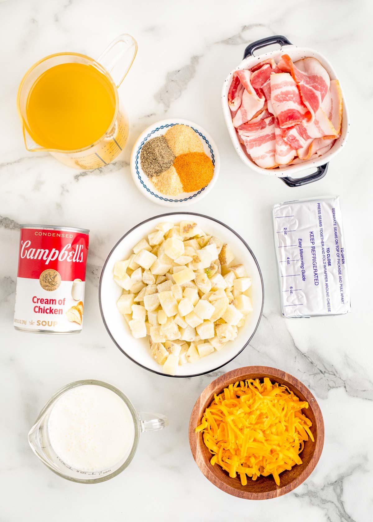
<svg viewBox="0 0 373 522">
<path fill-rule="evenodd" d="M 130 464 L 140 433 L 167 425 L 163 415 L 137 413 L 110 384 L 77 381 L 47 402 L 28 440 L 33 452 L 60 477 L 94 484 L 115 477 Z"/>
</svg>

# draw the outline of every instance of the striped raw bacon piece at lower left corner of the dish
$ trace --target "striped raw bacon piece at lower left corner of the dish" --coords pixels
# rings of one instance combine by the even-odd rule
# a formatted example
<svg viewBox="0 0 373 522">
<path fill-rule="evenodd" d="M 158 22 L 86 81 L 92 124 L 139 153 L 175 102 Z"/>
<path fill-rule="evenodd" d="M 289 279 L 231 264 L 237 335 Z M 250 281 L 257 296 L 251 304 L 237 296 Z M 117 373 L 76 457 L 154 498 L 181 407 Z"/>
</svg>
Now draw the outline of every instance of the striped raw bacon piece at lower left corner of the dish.
<svg viewBox="0 0 373 522">
<path fill-rule="evenodd" d="M 257 122 L 249 122 L 238 131 L 252 160 L 264 169 L 277 167 L 275 161 L 275 118 L 270 116 Z"/>
</svg>

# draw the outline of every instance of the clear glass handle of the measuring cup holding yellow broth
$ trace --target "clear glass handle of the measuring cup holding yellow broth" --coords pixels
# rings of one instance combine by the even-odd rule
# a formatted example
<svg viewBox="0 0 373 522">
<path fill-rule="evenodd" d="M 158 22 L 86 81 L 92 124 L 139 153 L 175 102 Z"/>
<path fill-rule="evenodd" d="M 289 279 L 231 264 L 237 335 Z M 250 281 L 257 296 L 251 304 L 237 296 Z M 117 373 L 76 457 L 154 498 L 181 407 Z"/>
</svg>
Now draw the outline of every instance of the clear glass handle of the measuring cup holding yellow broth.
<svg viewBox="0 0 373 522">
<path fill-rule="evenodd" d="M 120 34 L 103 51 L 98 62 L 110 73 L 119 87 L 129 72 L 137 53 L 137 42 L 130 34 Z"/>
</svg>

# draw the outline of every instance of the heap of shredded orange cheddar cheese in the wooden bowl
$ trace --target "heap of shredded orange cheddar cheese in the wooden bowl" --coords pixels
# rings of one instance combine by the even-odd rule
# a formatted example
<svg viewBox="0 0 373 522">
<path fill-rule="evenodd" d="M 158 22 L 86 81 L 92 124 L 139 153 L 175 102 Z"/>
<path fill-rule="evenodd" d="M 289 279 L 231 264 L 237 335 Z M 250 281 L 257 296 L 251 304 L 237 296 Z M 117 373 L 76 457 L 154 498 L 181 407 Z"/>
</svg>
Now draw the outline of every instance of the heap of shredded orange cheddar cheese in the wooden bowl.
<svg viewBox="0 0 373 522">
<path fill-rule="evenodd" d="M 215 395 L 195 429 L 218 464 L 232 478 L 257 480 L 272 474 L 279 485 L 279 474 L 302 464 L 299 457 L 312 422 L 302 414 L 308 402 L 301 402 L 283 384 L 265 377 L 230 384 Z"/>
</svg>

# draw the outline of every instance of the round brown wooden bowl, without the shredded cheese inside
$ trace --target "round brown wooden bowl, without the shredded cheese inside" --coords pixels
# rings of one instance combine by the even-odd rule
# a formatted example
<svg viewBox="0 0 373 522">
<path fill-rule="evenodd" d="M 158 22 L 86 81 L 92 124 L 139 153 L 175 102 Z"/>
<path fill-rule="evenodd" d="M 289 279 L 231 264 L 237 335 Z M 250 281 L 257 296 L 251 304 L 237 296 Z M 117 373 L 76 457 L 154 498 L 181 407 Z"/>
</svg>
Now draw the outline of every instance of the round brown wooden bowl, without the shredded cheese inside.
<svg viewBox="0 0 373 522">
<path fill-rule="evenodd" d="M 279 486 L 276 485 L 272 475 L 269 477 L 261 476 L 255 481 L 248 478 L 246 486 L 241 484 L 239 477 L 235 479 L 229 477 L 228 473 L 220 466 L 217 464 L 212 466 L 210 464 L 212 455 L 202 440 L 202 433 L 195 433 L 194 431 L 196 426 L 201 423 L 205 409 L 213 401 L 214 394 L 222 393 L 223 389 L 229 384 L 257 377 L 260 379 L 269 377 L 272 382 L 285 384 L 299 400 L 308 402 L 308 409 L 305 410 L 305 414 L 312 422 L 310 430 L 314 437 L 314 442 L 311 440 L 305 442 L 305 447 L 300 454 L 303 463 L 281 473 Z M 190 417 L 189 443 L 197 466 L 204 476 L 219 489 L 241 499 L 273 499 L 293 491 L 312 473 L 319 461 L 324 444 L 324 421 L 320 407 L 310 390 L 293 375 L 269 366 L 246 366 L 221 375 L 203 390 L 194 405 Z"/>
</svg>

